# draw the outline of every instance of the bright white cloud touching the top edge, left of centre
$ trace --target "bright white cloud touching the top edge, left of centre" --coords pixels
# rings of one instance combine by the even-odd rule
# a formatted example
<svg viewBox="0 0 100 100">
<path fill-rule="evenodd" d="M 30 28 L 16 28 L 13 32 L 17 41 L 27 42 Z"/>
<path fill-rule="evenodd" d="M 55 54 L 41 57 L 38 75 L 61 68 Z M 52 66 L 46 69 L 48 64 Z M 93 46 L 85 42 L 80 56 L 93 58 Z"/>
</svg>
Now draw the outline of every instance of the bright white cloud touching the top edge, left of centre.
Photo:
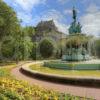
<svg viewBox="0 0 100 100">
<path fill-rule="evenodd" d="M 12 1 L 13 2 L 13 1 Z M 15 0 L 14 3 L 20 5 L 23 10 L 31 11 L 38 4 L 44 4 L 46 0 Z"/>
</svg>

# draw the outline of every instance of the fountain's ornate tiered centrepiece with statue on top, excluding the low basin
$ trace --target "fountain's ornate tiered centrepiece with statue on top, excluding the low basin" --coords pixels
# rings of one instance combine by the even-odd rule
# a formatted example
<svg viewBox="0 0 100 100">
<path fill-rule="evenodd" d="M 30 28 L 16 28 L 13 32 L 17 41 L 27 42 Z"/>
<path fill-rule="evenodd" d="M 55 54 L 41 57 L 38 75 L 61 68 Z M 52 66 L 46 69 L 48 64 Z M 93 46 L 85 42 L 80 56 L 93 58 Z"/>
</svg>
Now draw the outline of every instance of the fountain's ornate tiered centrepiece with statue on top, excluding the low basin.
<svg viewBox="0 0 100 100">
<path fill-rule="evenodd" d="M 77 21 L 77 11 L 73 7 L 73 22 L 69 27 L 69 35 L 66 39 L 66 54 L 62 60 L 66 61 L 84 61 L 89 60 L 89 40 L 90 38 L 82 34 L 82 26 Z"/>
</svg>

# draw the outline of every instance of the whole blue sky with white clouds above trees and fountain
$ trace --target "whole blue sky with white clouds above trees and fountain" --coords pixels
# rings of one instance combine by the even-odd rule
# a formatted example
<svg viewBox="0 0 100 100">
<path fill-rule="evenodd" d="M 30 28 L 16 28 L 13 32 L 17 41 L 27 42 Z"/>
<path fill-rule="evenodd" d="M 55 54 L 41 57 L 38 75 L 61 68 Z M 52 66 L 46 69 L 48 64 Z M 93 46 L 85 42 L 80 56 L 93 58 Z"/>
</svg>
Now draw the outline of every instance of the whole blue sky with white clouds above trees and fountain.
<svg viewBox="0 0 100 100">
<path fill-rule="evenodd" d="M 100 0 L 3 0 L 22 20 L 23 26 L 36 26 L 41 20 L 53 19 L 58 30 L 68 34 L 72 22 L 72 8 L 77 9 L 77 20 L 82 33 L 100 35 Z"/>
</svg>

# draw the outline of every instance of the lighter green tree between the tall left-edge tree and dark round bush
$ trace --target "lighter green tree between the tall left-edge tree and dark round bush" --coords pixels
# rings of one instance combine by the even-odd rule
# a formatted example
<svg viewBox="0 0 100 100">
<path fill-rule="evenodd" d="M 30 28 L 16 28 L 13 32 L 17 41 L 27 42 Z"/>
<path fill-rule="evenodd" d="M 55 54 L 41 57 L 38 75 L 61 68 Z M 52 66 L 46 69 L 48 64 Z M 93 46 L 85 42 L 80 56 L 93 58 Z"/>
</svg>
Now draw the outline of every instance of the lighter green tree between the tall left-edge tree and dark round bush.
<svg viewBox="0 0 100 100">
<path fill-rule="evenodd" d="M 19 60 L 26 60 L 30 57 L 32 45 L 33 43 L 31 41 L 31 38 L 25 34 L 24 30 L 19 32 L 19 34 L 16 34 L 14 38 L 14 58 L 16 62 L 18 62 Z"/>
</svg>

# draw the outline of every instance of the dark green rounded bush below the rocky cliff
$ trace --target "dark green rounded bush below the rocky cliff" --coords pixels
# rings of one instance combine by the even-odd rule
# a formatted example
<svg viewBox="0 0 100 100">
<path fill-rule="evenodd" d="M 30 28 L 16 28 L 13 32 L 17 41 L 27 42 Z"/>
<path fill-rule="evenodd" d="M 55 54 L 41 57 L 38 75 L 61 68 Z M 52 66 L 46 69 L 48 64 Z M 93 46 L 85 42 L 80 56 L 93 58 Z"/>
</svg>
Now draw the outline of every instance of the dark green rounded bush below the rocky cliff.
<svg viewBox="0 0 100 100">
<path fill-rule="evenodd" d="M 49 58 L 52 56 L 53 50 L 54 46 L 49 40 L 45 39 L 40 43 L 40 54 L 42 57 Z"/>
</svg>

